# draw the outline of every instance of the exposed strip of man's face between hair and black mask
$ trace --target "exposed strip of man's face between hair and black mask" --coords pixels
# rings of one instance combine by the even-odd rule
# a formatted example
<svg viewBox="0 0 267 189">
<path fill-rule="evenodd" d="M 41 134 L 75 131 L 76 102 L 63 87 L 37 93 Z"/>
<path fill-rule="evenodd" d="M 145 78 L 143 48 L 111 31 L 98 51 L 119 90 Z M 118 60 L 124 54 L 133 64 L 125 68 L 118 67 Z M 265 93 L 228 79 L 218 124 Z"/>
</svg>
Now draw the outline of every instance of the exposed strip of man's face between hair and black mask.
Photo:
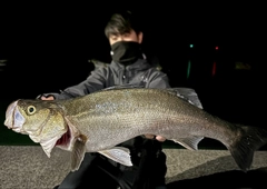
<svg viewBox="0 0 267 189">
<path fill-rule="evenodd" d="M 113 43 L 116 43 L 118 41 L 136 41 L 136 42 L 141 43 L 142 32 L 139 32 L 139 34 L 137 34 L 136 31 L 131 30 L 129 33 L 109 37 L 110 46 L 112 46 Z"/>
</svg>

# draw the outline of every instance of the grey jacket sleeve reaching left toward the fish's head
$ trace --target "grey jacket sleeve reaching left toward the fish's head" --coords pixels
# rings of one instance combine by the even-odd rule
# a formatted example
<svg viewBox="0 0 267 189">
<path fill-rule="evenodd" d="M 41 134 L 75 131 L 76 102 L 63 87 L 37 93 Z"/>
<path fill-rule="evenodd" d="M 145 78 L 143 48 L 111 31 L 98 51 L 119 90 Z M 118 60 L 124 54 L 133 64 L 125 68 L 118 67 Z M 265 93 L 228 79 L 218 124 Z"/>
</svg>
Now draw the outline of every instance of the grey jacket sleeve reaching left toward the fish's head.
<svg viewBox="0 0 267 189">
<path fill-rule="evenodd" d="M 59 93 L 43 93 L 42 96 L 53 96 L 55 99 L 70 99 L 75 97 L 85 96 L 97 90 L 103 89 L 107 80 L 107 68 L 99 68 L 93 70 L 90 76 L 82 82 L 60 90 Z"/>
</svg>

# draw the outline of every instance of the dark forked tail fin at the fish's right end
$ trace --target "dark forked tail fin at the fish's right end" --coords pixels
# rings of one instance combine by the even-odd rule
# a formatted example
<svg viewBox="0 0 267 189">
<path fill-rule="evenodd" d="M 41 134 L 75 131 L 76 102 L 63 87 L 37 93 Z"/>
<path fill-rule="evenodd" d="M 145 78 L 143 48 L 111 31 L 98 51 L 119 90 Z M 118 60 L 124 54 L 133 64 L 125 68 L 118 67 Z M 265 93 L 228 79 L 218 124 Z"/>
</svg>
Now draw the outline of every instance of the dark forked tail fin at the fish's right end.
<svg viewBox="0 0 267 189">
<path fill-rule="evenodd" d="M 240 128 L 241 137 L 230 145 L 229 151 L 238 167 L 246 172 L 253 163 L 254 152 L 267 143 L 267 130 L 247 126 Z"/>
</svg>

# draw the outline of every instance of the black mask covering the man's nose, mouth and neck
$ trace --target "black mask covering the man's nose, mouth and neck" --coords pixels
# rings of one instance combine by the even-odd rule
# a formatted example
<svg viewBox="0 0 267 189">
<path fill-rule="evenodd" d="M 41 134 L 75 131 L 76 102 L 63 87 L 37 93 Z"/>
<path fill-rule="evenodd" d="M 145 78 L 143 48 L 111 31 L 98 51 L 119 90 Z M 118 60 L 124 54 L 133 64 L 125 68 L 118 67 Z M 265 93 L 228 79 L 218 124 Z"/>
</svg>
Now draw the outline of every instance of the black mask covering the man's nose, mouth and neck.
<svg viewBox="0 0 267 189">
<path fill-rule="evenodd" d="M 115 62 L 131 64 L 141 58 L 140 43 L 135 41 L 119 41 L 111 46 L 111 57 Z"/>
</svg>

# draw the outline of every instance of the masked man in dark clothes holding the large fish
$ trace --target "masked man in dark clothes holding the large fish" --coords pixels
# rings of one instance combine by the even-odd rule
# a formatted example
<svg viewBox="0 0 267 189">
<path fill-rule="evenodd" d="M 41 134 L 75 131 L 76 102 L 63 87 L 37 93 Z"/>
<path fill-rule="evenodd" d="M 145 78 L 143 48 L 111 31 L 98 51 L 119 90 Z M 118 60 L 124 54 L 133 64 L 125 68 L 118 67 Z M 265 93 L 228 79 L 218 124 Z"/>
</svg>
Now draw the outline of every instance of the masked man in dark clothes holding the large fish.
<svg viewBox="0 0 267 189">
<path fill-rule="evenodd" d="M 131 12 L 113 14 L 105 33 L 112 57 L 108 67 L 95 69 L 85 81 L 65 89 L 61 93 L 46 93 L 39 98 L 68 99 L 121 84 L 170 87 L 168 77 L 144 58 L 144 33 Z M 126 167 L 99 153 L 86 153 L 79 170 L 70 172 L 56 188 L 164 189 L 167 166 L 161 141 L 165 138 L 155 138 L 154 136 L 140 136 L 119 145 L 130 149 L 132 167 Z"/>
</svg>

